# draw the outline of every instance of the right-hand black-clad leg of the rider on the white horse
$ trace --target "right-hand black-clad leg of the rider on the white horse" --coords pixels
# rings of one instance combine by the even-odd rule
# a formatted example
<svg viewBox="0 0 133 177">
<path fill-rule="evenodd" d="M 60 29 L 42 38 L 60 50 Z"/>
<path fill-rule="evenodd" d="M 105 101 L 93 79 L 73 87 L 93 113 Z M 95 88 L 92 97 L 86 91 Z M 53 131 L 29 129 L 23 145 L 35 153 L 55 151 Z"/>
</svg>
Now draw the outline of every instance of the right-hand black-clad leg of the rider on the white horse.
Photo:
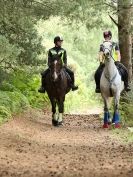
<svg viewBox="0 0 133 177">
<path fill-rule="evenodd" d="M 128 83 L 128 71 L 127 71 L 127 68 L 120 62 L 115 62 L 118 70 L 121 72 L 121 75 L 122 75 L 122 80 L 124 81 L 124 85 L 125 85 L 125 90 L 126 91 L 130 91 L 131 88 L 129 86 L 129 83 Z"/>
</svg>

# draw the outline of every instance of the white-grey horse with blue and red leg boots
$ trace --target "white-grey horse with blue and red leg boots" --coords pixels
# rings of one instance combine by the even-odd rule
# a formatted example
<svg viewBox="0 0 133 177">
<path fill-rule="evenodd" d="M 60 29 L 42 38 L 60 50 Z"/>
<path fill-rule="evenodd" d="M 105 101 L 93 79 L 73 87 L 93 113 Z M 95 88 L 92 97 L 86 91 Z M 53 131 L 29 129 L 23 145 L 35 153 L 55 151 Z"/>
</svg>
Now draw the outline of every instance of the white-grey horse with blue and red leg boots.
<svg viewBox="0 0 133 177">
<path fill-rule="evenodd" d="M 120 127 L 119 100 L 121 92 L 124 90 L 124 83 L 112 57 L 113 46 L 110 41 L 103 43 L 105 68 L 100 80 L 101 95 L 104 100 L 104 124 L 103 128 L 108 128 L 113 123 L 115 128 Z M 109 113 L 109 98 L 114 98 L 113 119 Z"/>
</svg>

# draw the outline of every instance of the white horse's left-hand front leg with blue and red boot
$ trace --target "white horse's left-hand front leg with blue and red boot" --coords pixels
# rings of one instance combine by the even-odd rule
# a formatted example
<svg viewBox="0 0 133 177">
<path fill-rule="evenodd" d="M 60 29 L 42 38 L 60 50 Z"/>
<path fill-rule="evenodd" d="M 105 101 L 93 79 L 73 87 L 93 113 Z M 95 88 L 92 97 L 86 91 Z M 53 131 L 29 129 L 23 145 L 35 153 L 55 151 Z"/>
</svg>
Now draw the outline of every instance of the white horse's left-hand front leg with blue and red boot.
<svg viewBox="0 0 133 177">
<path fill-rule="evenodd" d="M 111 118 L 109 113 L 109 98 L 104 98 L 104 124 L 103 128 L 108 128 L 109 124 L 111 124 Z"/>
</svg>

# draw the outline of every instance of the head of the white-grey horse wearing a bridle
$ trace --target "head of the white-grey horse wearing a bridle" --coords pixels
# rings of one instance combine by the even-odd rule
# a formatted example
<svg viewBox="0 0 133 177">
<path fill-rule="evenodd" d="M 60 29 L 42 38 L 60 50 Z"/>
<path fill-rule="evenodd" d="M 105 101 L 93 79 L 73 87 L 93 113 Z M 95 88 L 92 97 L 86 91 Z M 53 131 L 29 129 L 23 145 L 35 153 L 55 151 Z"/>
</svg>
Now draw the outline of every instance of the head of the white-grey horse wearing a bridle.
<svg viewBox="0 0 133 177">
<path fill-rule="evenodd" d="M 102 45 L 103 47 L 103 54 L 105 56 L 105 59 L 110 59 L 112 58 L 112 50 L 113 50 L 113 45 L 111 41 L 105 41 Z"/>
</svg>

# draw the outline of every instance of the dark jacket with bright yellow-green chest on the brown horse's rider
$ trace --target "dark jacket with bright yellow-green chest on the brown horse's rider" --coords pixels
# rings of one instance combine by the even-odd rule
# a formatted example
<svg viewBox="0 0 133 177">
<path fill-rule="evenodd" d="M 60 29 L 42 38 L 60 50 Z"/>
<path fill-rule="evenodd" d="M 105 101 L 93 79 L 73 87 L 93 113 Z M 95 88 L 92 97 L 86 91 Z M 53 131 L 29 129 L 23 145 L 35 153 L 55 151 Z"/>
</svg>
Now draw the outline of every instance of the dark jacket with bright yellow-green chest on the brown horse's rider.
<svg viewBox="0 0 133 177">
<path fill-rule="evenodd" d="M 62 59 L 62 62 L 63 62 L 63 65 L 64 66 L 67 66 L 67 53 L 66 53 L 66 50 L 61 48 L 61 47 L 53 47 L 51 49 L 49 49 L 49 52 L 48 52 L 48 66 L 50 66 L 51 64 L 51 61 L 52 61 L 52 57 L 54 55 L 57 55 L 57 54 L 62 54 L 61 56 L 61 59 Z"/>
</svg>

